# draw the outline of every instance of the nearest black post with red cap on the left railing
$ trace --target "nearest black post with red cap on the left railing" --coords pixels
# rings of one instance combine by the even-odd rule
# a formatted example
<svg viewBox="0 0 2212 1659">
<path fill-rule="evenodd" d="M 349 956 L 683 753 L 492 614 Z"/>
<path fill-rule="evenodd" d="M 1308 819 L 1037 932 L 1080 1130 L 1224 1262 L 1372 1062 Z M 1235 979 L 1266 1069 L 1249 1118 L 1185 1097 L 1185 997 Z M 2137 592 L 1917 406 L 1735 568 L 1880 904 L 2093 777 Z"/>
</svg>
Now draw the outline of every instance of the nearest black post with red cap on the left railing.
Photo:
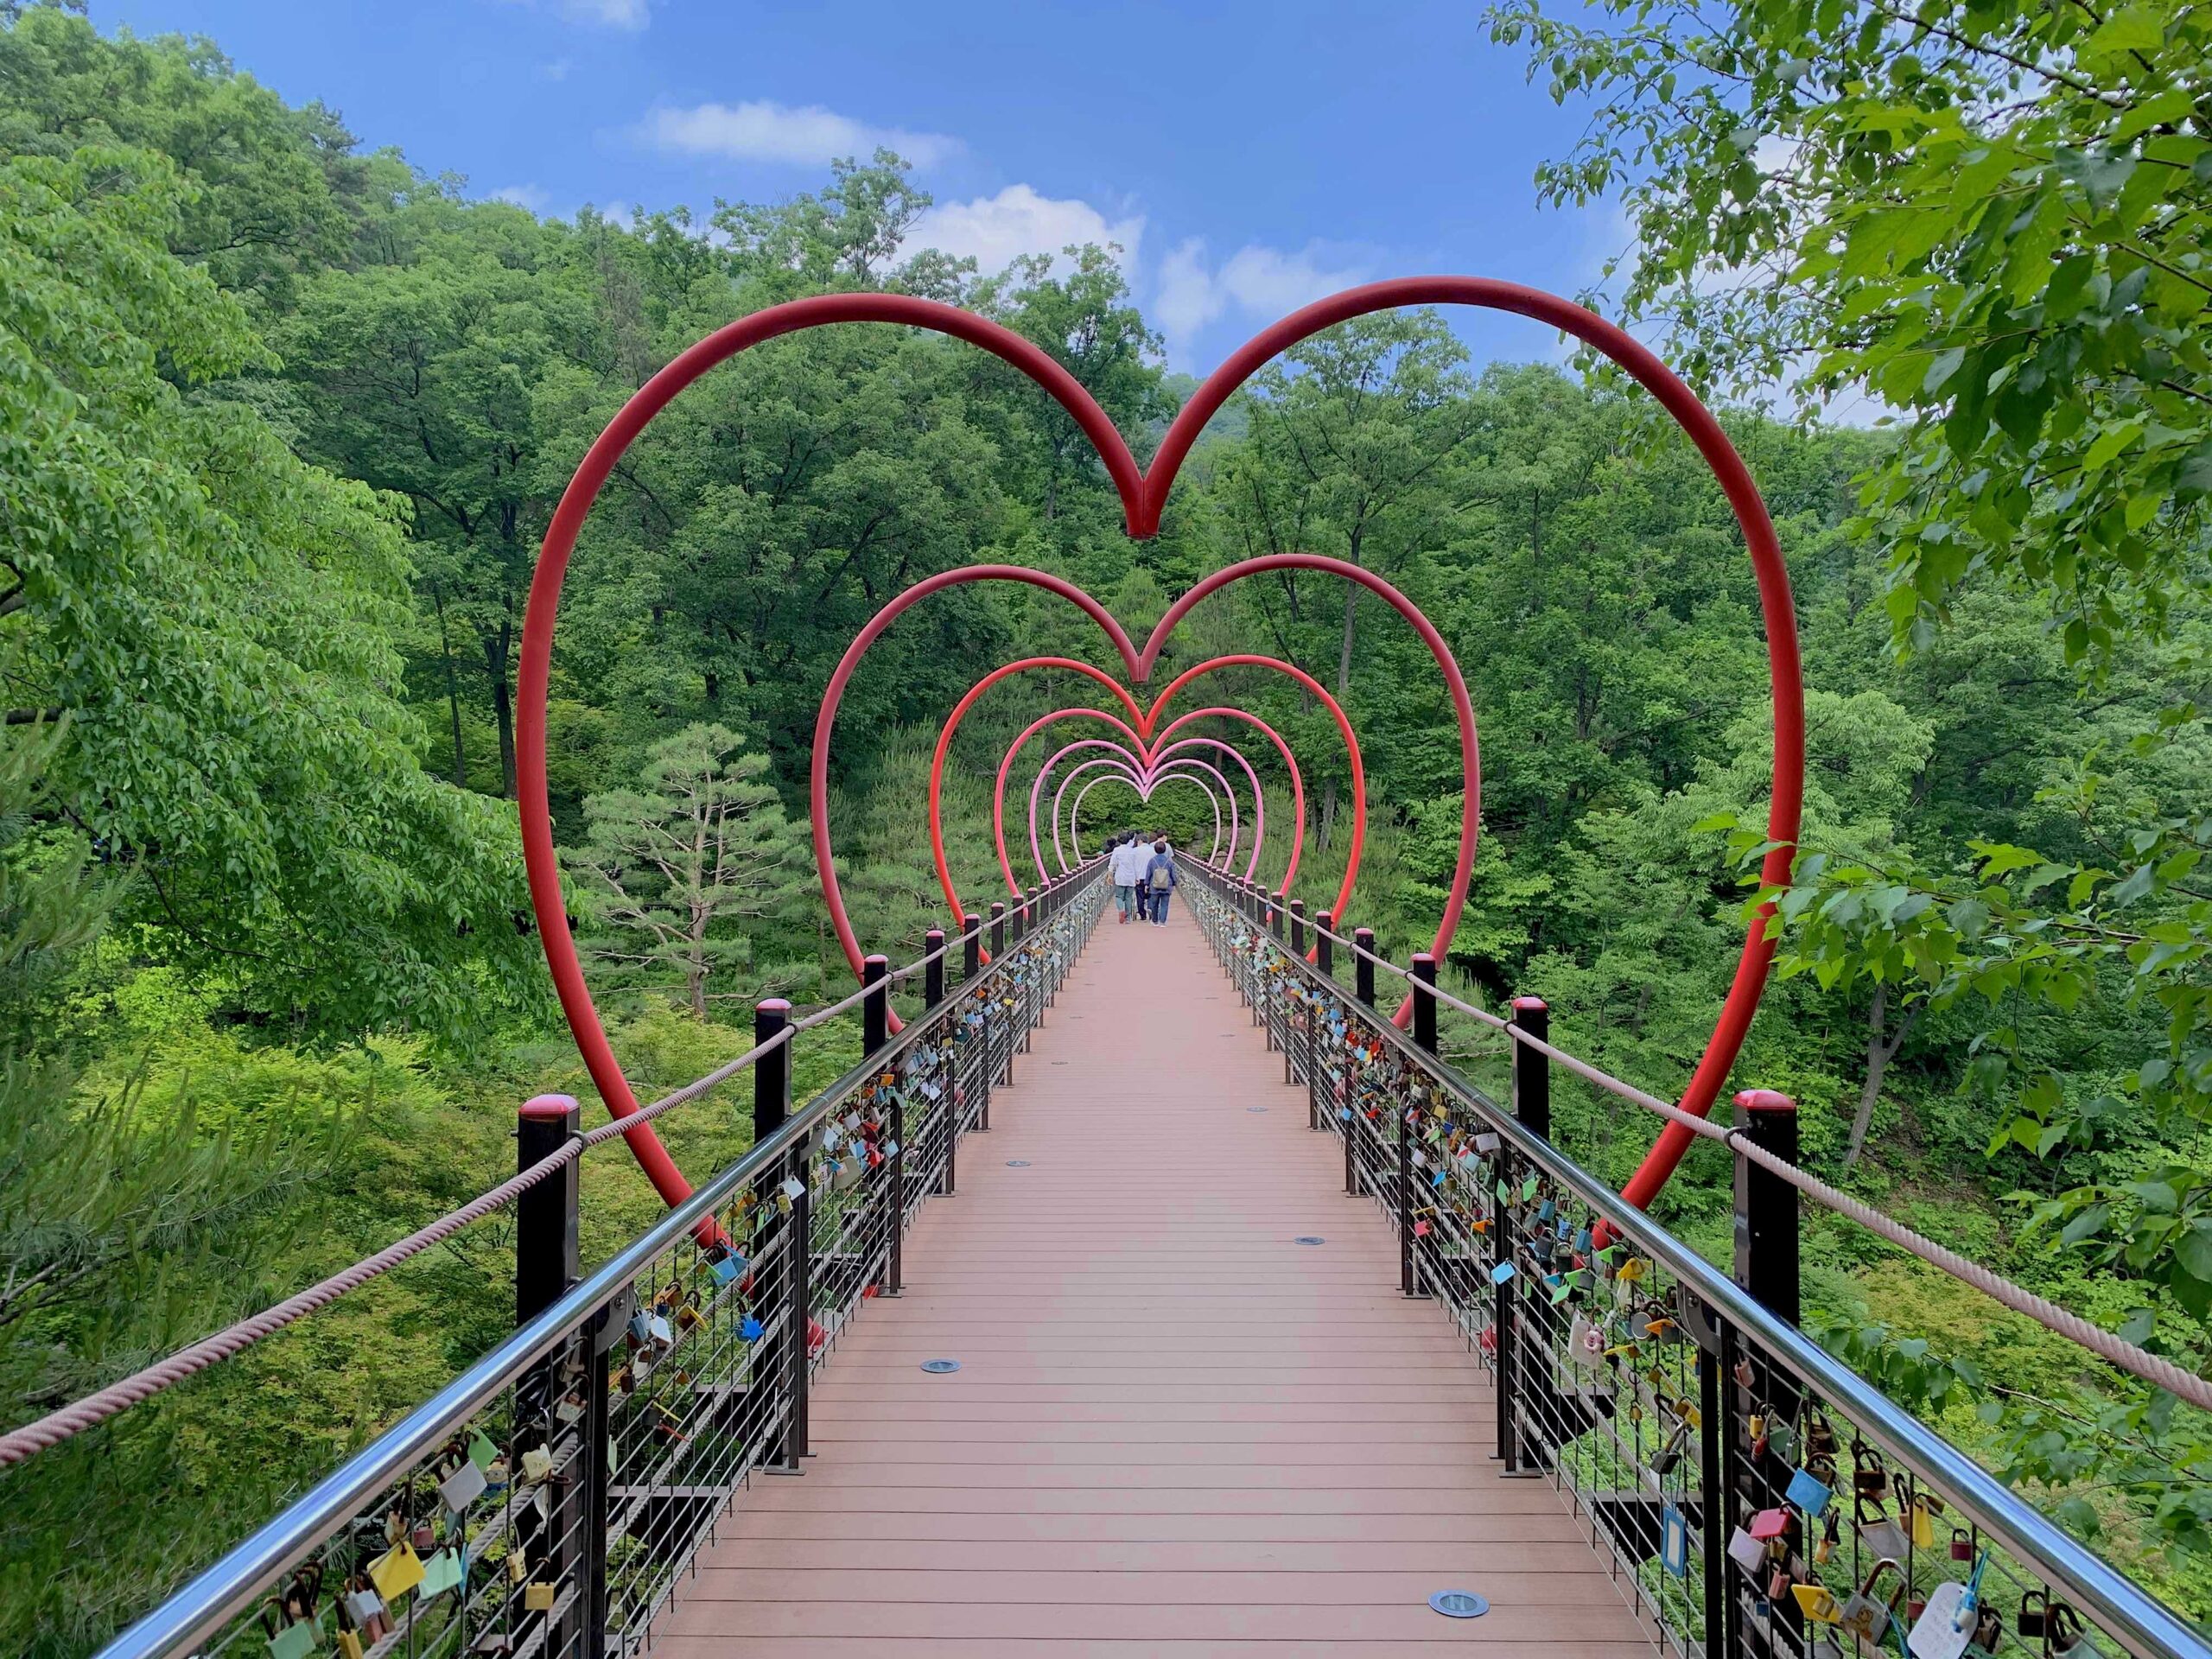
<svg viewBox="0 0 2212 1659">
<path fill-rule="evenodd" d="M 582 1110 L 571 1095 L 538 1095 L 515 1113 L 515 1175 L 560 1157 L 582 1133 Z M 577 1250 L 577 1217 L 582 1159 L 566 1166 L 515 1199 L 515 1325 L 529 1325 L 557 1303 L 582 1279 Z M 568 1613 L 546 1621 L 549 1652 L 597 1650 L 606 1630 L 606 1360 L 599 1358 L 595 1334 L 586 1327 L 577 1338 L 584 1360 L 584 1416 L 580 1418 L 580 1480 L 555 1489 L 555 1513 L 544 1537 L 553 1540 L 544 1573 L 555 1584 L 575 1582 L 580 1595 Z M 522 1422 L 549 1422 L 562 1391 L 560 1352 L 531 1367 L 515 1391 Z M 557 1436 L 560 1429 L 551 1429 Z M 546 1451 L 553 1451 L 546 1444 Z M 515 1453 L 509 1453 L 515 1455 Z M 599 1526 L 591 1517 L 599 1517 Z"/>
</svg>

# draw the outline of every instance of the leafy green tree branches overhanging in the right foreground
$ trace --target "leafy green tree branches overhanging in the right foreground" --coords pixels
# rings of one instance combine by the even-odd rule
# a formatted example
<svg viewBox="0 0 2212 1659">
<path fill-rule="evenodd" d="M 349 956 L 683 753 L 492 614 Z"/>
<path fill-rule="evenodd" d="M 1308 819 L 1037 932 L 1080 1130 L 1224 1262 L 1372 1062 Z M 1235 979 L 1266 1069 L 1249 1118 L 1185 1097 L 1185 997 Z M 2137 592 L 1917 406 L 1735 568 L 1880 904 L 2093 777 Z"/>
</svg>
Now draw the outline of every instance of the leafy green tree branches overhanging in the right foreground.
<svg viewBox="0 0 2212 1659">
<path fill-rule="evenodd" d="M 2135 1340 L 2201 1360 L 2212 18 L 1509 0 L 1491 20 L 1555 97 L 1595 100 L 1540 186 L 1624 192 L 1628 314 L 1670 325 L 1697 380 L 1796 376 L 1801 400 L 1865 389 L 1900 414 L 1856 526 L 1885 544 L 1893 644 L 1955 655 L 1947 628 L 2004 595 L 2077 670 L 2081 739 L 2028 812 L 1969 796 L 1949 838 L 1871 856 L 1805 838 L 1774 894 L 1785 971 L 1969 1020 L 1966 1093 L 1997 1104 L 1991 1157 L 2042 1166 L 2022 1181 L 2035 1223 L 2124 1285 Z M 2159 1440 L 2170 1407 L 2137 1400 L 2130 1427 Z M 2183 1464 L 2212 1447 L 2190 1413 L 2170 1433 Z M 2095 1451 L 2048 1440 L 2066 1451 L 2044 1471 L 2112 1455 L 2128 1486 L 2141 1469 L 2104 1427 Z M 2203 1548 L 2212 1504 L 2148 1491 L 2168 1540 Z"/>
</svg>

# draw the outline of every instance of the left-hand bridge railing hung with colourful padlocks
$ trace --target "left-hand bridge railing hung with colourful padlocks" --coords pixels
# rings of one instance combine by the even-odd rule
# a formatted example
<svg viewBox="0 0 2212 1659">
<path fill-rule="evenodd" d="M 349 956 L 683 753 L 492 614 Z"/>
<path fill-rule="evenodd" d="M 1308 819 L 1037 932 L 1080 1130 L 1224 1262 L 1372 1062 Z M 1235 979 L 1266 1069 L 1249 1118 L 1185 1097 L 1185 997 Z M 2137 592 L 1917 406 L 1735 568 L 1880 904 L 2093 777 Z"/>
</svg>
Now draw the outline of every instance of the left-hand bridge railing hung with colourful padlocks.
<svg viewBox="0 0 2212 1659">
<path fill-rule="evenodd" d="M 799 1033 L 763 1002 L 754 1146 L 737 1164 L 588 1276 L 575 1161 L 531 1188 L 513 1336 L 106 1655 L 648 1652 L 750 1482 L 799 1469 L 814 1371 L 869 1298 L 898 1294 L 907 1223 L 956 1190 L 962 1137 L 989 1128 L 991 1091 L 1097 922 L 1099 874 L 933 936 L 896 1037 L 887 964 L 869 958 L 865 1057 L 799 1110 Z M 522 1164 L 573 1135 L 575 1102 L 531 1102 Z"/>
</svg>

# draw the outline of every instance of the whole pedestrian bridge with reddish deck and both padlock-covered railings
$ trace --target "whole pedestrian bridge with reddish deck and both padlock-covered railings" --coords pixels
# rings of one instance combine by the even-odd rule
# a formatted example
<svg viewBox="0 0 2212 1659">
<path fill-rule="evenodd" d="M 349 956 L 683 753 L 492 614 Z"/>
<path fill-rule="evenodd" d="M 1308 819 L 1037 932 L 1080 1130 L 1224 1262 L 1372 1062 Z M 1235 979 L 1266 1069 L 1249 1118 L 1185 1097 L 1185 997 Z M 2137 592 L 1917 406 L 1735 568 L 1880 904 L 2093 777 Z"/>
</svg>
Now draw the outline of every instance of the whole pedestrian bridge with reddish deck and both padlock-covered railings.
<svg viewBox="0 0 2212 1659">
<path fill-rule="evenodd" d="M 796 1110 L 763 1004 L 757 1146 L 588 1274 L 524 1106 L 513 1338 L 108 1652 L 2212 1652 L 1794 1329 L 1787 1102 L 1721 1270 L 1551 1146 L 1540 1006 L 1495 1102 L 1425 962 L 1400 1033 L 1363 936 L 1099 876 L 872 958 Z"/>
</svg>

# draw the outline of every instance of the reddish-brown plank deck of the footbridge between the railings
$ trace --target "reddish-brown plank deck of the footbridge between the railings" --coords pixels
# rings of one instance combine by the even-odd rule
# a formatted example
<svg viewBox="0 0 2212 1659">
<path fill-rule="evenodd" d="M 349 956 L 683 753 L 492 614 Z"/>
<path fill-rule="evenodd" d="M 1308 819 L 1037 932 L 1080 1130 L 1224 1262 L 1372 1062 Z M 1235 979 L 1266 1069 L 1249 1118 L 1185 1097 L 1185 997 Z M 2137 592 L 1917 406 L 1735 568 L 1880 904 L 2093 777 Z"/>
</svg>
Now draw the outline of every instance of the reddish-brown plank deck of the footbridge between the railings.
<svg viewBox="0 0 2212 1659">
<path fill-rule="evenodd" d="M 1281 1077 L 1181 900 L 1108 916 L 657 1652 L 1650 1655 Z"/>
</svg>

